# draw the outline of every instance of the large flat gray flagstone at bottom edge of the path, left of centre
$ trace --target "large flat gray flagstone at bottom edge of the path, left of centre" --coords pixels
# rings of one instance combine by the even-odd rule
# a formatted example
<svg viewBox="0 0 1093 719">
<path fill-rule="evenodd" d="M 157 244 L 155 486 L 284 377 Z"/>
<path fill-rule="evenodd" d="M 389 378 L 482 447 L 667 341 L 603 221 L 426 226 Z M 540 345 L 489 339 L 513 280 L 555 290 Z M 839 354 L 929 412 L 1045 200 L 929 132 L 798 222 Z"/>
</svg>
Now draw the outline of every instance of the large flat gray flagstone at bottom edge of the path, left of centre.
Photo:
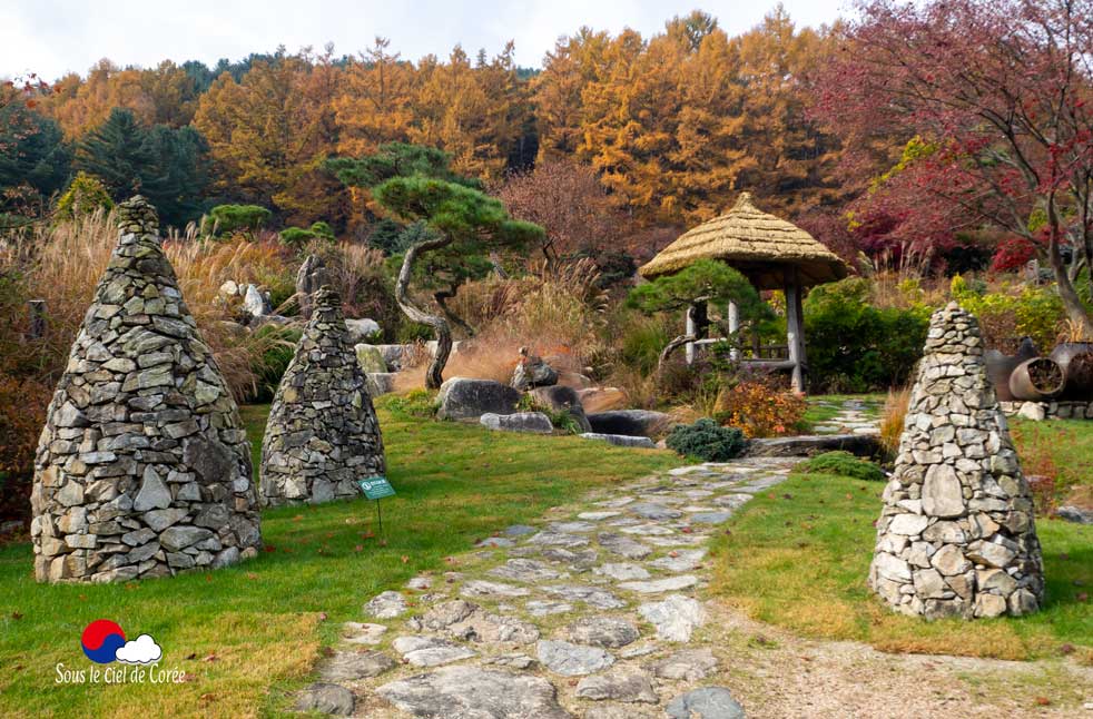
<svg viewBox="0 0 1093 719">
<path fill-rule="evenodd" d="M 545 679 L 477 667 L 445 667 L 384 684 L 376 693 L 415 717 L 571 719 Z"/>
</svg>

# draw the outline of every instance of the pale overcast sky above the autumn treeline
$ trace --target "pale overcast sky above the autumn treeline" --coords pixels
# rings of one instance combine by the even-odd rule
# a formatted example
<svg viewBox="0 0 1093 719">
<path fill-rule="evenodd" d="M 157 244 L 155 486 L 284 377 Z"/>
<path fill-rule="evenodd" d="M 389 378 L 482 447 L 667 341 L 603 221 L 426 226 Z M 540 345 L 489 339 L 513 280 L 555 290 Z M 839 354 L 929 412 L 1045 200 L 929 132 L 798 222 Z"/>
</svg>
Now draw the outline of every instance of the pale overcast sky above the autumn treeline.
<svg viewBox="0 0 1093 719">
<path fill-rule="evenodd" d="M 353 55 L 375 36 L 403 59 L 444 57 L 462 43 L 491 56 L 514 40 L 516 61 L 540 67 L 559 36 L 581 26 L 648 36 L 664 20 L 701 8 L 730 35 L 747 30 L 776 0 L 0 0 L 0 77 L 37 72 L 53 80 L 81 75 L 100 58 L 120 66 L 160 60 L 238 60 L 333 42 Z M 846 0 L 785 0 L 798 26 L 830 23 Z"/>
</svg>

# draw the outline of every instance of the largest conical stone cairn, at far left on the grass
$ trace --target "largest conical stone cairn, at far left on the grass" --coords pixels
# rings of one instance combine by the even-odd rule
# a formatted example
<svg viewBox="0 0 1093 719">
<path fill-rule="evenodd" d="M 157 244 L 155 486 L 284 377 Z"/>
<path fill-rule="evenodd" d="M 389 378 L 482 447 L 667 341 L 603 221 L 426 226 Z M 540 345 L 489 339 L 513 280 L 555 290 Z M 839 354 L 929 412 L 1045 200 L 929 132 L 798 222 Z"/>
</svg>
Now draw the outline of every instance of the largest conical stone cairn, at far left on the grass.
<svg viewBox="0 0 1093 719">
<path fill-rule="evenodd" d="M 31 493 L 38 581 L 223 567 L 262 543 L 239 411 L 183 302 L 156 210 L 120 240 L 49 405 Z"/>
</svg>

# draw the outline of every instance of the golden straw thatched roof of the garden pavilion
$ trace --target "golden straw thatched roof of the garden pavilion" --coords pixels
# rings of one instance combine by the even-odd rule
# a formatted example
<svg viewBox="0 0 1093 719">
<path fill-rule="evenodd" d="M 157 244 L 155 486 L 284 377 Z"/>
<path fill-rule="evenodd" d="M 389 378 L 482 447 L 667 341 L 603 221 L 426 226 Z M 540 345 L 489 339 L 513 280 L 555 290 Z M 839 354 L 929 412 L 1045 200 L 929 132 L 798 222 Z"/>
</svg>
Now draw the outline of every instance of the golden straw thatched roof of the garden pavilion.
<svg viewBox="0 0 1093 719">
<path fill-rule="evenodd" d="M 797 268 L 802 286 L 846 277 L 846 265 L 804 229 L 768 215 L 740 193 L 725 215 L 687 230 L 638 272 L 652 279 L 698 259 L 720 259 L 742 273 L 758 289 L 781 289 L 786 270 Z"/>
</svg>

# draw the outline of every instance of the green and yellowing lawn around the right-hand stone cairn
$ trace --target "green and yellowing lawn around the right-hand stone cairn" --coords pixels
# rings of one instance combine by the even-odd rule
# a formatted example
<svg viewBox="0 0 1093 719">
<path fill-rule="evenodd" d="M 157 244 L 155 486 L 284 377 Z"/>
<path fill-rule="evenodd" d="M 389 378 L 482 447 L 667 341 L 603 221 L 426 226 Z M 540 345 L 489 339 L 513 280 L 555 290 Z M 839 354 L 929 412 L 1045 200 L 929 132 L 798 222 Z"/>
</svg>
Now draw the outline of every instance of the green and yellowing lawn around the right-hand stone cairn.
<svg viewBox="0 0 1093 719">
<path fill-rule="evenodd" d="M 1093 528 L 1036 521 L 1047 577 L 1043 611 L 924 622 L 892 612 L 865 583 L 883 489 L 797 474 L 758 495 L 715 542 L 711 593 L 755 619 L 885 651 L 1030 659 L 1074 644 L 1093 661 Z"/>
</svg>

